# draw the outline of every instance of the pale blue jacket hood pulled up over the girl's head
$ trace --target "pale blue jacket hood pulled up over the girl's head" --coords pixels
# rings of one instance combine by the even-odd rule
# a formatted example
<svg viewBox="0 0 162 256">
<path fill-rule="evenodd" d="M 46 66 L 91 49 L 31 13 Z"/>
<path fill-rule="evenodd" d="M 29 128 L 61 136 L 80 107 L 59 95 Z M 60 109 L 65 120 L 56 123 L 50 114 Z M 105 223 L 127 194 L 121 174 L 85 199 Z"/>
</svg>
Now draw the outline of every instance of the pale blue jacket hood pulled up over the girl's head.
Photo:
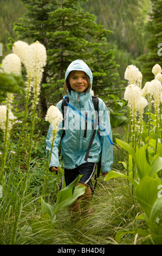
<svg viewBox="0 0 162 256">
<path fill-rule="evenodd" d="M 91 70 L 89 69 L 88 65 L 83 62 L 81 59 L 76 59 L 74 62 L 70 63 L 70 65 L 67 68 L 66 74 L 65 74 L 65 80 L 68 77 L 69 73 L 73 70 L 79 70 L 84 71 L 89 76 L 91 88 L 92 88 L 92 82 L 93 82 L 93 75 Z"/>
</svg>

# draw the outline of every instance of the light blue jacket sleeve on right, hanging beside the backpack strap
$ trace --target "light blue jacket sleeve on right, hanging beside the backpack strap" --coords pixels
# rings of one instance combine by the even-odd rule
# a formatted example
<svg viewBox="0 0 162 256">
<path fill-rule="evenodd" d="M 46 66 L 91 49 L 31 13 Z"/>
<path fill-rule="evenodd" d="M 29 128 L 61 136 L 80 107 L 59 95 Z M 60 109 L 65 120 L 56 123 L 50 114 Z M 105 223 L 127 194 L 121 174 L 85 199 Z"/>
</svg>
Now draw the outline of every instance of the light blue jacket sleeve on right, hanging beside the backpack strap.
<svg viewBox="0 0 162 256">
<path fill-rule="evenodd" d="M 113 145 L 111 145 L 109 138 L 111 139 L 111 141 L 113 141 L 113 139 L 109 113 L 107 111 L 105 103 L 101 99 L 99 99 L 99 124 L 99 134 L 102 147 L 101 173 L 107 173 L 110 172 L 113 164 Z M 106 135 L 106 132 L 103 131 L 103 129 L 106 130 L 109 138 Z"/>
</svg>

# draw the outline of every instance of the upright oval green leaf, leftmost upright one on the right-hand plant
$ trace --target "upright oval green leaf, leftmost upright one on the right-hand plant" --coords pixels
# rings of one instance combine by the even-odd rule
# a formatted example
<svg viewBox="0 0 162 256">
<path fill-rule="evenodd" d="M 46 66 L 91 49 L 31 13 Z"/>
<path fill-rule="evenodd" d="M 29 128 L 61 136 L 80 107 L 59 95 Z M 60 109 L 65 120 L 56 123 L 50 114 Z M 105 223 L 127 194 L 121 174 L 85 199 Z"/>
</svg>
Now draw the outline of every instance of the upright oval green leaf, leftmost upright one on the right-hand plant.
<svg viewBox="0 0 162 256">
<path fill-rule="evenodd" d="M 148 173 L 151 170 L 151 166 L 147 161 L 146 151 L 147 151 L 147 145 L 140 148 L 136 153 L 136 165 L 137 165 L 140 179 L 148 175 Z"/>
</svg>

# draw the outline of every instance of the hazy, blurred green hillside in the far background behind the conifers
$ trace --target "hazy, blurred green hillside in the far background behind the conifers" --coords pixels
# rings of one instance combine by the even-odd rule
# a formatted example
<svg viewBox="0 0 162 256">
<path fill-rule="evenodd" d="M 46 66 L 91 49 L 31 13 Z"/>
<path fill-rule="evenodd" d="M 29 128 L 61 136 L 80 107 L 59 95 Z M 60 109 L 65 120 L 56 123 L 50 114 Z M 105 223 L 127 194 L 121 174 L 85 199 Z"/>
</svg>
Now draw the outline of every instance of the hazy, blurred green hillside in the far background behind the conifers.
<svg viewBox="0 0 162 256">
<path fill-rule="evenodd" d="M 115 48 L 116 63 L 119 79 L 124 79 L 126 66 L 129 64 L 138 65 L 136 59 L 146 52 L 147 34 L 144 31 L 147 20 L 147 13 L 150 9 L 149 0 L 89 0 L 80 3 L 82 11 L 87 11 L 96 16 L 96 22 L 102 23 L 106 29 L 113 31 L 107 38 L 108 48 Z M 26 11 L 21 0 L 1 0 L 0 1 L 0 42 L 3 45 L 3 56 L 9 51 L 6 44 L 8 38 L 17 40 L 17 35 L 13 31 L 14 22 L 24 16 Z M 0 62 L 2 57 L 0 57 Z"/>
</svg>

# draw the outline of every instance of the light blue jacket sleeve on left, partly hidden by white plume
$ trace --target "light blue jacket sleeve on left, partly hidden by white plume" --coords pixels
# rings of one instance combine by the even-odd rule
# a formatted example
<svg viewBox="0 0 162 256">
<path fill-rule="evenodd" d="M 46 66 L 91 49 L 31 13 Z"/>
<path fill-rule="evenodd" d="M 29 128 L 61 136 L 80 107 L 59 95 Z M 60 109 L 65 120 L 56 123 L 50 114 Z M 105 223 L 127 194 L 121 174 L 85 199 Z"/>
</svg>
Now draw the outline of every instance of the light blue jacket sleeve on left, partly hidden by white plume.
<svg viewBox="0 0 162 256">
<path fill-rule="evenodd" d="M 61 104 L 62 104 L 62 100 L 59 101 L 59 103 L 57 103 L 56 107 L 58 107 L 60 109 L 61 113 L 62 113 Z M 49 168 L 51 166 L 55 166 L 55 167 L 60 166 L 60 164 L 59 164 L 59 145 L 60 145 L 60 142 L 61 142 L 62 131 L 63 131 L 63 129 L 62 129 L 62 122 L 61 122 L 59 124 L 59 131 L 57 132 L 57 136 L 56 136 L 55 141 L 54 141 Z M 51 138 L 51 125 L 49 125 L 47 138 L 46 138 L 46 154 L 49 150 L 48 155 L 50 155 L 51 143 L 52 143 L 52 139 L 50 139 L 50 138 Z"/>
</svg>

